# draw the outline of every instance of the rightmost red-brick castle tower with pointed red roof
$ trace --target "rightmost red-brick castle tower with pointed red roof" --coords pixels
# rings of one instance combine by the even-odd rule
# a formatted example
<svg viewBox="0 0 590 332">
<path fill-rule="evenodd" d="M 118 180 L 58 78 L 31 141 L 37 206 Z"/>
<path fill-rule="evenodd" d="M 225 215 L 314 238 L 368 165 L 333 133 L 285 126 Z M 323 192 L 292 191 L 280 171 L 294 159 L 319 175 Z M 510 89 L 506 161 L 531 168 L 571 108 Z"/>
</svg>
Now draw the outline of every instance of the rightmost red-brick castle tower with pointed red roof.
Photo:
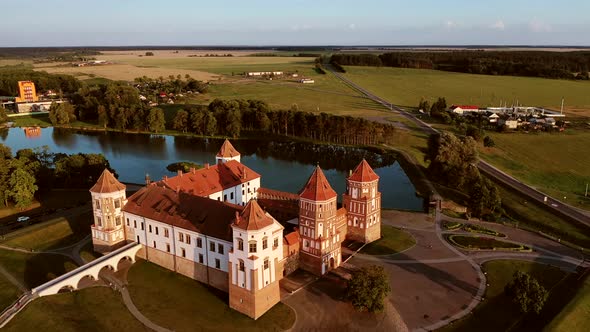
<svg viewBox="0 0 590 332">
<path fill-rule="evenodd" d="M 342 203 L 348 211 L 348 239 L 369 243 L 381 237 L 379 176 L 366 160 L 346 179 Z"/>
</svg>

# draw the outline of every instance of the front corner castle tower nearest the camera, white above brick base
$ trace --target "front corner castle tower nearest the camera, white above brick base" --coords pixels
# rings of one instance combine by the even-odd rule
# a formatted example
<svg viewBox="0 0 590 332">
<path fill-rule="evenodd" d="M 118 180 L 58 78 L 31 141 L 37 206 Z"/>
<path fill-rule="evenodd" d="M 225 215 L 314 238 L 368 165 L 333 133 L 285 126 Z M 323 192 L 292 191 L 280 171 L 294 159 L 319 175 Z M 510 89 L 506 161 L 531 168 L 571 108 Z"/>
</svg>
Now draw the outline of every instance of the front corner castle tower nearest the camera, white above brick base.
<svg viewBox="0 0 590 332">
<path fill-rule="evenodd" d="M 258 319 L 280 300 L 283 226 L 250 200 L 231 228 L 229 306 Z"/>
</svg>

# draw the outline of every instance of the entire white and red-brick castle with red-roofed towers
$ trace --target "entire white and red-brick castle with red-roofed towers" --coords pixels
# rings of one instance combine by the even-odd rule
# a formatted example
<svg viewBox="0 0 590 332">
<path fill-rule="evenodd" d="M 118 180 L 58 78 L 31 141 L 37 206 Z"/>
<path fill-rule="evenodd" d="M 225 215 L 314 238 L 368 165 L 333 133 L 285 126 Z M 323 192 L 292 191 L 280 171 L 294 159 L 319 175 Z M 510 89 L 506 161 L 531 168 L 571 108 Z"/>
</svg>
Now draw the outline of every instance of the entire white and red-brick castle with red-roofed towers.
<svg viewBox="0 0 590 332">
<path fill-rule="evenodd" d="M 139 257 L 228 292 L 231 308 L 257 319 L 279 302 L 283 276 L 297 268 L 323 275 L 342 263 L 345 239 L 381 237 L 379 176 L 365 160 L 347 178 L 341 208 L 319 166 L 298 196 L 260 180 L 228 140 L 215 165 L 146 179 L 128 198 L 105 169 L 90 189 L 94 250 L 140 243 Z M 263 201 L 295 209 L 298 227 L 284 234 Z"/>
</svg>

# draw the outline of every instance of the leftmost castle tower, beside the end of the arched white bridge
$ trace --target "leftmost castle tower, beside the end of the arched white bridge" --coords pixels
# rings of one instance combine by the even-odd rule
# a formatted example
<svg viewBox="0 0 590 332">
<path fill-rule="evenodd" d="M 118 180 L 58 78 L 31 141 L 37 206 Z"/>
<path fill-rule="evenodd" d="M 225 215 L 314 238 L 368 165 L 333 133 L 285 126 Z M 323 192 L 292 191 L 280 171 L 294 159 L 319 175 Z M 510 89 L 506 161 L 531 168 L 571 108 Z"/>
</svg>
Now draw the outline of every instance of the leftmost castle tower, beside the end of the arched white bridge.
<svg viewBox="0 0 590 332">
<path fill-rule="evenodd" d="M 125 244 L 125 229 L 121 209 L 127 203 L 125 185 L 105 169 L 90 188 L 92 196 L 92 244 L 94 251 L 105 253 Z"/>
</svg>

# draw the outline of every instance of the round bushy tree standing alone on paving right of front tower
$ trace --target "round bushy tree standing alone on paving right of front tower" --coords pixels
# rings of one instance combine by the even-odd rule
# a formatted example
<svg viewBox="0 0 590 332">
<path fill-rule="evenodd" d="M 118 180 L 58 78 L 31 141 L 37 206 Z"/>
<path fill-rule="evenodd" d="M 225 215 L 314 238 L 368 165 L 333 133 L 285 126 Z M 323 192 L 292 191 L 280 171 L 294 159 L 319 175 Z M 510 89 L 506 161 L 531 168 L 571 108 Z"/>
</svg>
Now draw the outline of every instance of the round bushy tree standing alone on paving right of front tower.
<svg viewBox="0 0 590 332">
<path fill-rule="evenodd" d="M 390 291 L 385 269 L 372 265 L 352 273 L 352 278 L 348 281 L 347 297 L 359 311 L 380 312 L 385 308 L 384 299 Z"/>
</svg>

